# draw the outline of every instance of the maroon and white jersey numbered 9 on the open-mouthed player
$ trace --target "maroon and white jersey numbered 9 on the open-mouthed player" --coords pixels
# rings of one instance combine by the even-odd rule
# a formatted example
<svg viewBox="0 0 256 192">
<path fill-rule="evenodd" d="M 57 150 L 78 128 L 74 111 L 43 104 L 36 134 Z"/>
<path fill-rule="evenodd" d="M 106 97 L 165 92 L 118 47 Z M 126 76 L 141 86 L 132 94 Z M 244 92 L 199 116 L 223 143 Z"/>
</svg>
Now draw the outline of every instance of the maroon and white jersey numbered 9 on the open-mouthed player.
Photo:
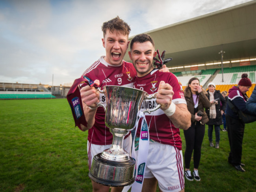
<svg viewBox="0 0 256 192">
<path fill-rule="evenodd" d="M 110 65 L 104 60 L 104 56 L 93 63 L 84 73 L 92 81 L 100 80 L 99 87 L 105 85 L 117 85 L 124 87 L 132 87 L 136 70 L 132 63 L 123 61 L 121 65 Z M 83 76 L 82 75 L 82 76 Z M 100 93 L 100 102 L 106 106 L 106 98 Z M 113 136 L 109 132 L 109 128 L 105 125 L 105 112 L 103 107 L 98 107 L 95 115 L 95 123 L 88 130 L 88 140 L 96 145 L 109 145 L 112 143 Z"/>
</svg>

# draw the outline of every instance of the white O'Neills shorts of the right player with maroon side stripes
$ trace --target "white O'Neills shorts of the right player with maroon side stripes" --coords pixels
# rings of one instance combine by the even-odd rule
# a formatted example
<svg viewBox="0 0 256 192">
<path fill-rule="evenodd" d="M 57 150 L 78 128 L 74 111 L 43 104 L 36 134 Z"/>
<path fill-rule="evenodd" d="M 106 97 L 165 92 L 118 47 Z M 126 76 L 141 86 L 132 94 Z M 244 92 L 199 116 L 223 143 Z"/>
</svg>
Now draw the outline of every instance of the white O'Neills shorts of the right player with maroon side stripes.
<svg viewBox="0 0 256 192">
<path fill-rule="evenodd" d="M 184 189 L 182 150 L 172 145 L 150 141 L 145 178 L 154 177 L 158 180 L 158 186 L 163 192 Z"/>
</svg>

